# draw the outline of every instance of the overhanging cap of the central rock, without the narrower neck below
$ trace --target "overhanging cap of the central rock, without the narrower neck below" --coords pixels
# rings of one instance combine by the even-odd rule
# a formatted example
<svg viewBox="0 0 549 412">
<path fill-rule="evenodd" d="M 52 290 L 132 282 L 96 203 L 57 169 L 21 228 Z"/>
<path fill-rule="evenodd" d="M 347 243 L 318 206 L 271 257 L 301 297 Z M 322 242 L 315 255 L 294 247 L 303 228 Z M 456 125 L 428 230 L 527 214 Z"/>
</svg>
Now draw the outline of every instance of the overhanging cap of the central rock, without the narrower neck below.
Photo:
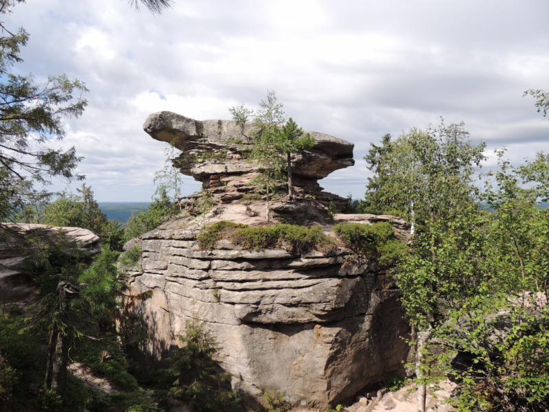
<svg viewBox="0 0 549 412">
<path fill-rule="evenodd" d="M 153 139 L 172 142 L 183 153 L 174 165 L 183 174 L 205 181 L 211 175 L 255 172 L 257 165 L 243 159 L 242 152 L 253 142 L 256 126 L 233 120 L 199 121 L 163 111 L 149 115 L 143 130 Z M 311 150 L 292 155 L 296 176 L 323 179 L 334 170 L 354 164 L 354 145 L 324 133 L 309 132 L 316 143 Z"/>
</svg>

